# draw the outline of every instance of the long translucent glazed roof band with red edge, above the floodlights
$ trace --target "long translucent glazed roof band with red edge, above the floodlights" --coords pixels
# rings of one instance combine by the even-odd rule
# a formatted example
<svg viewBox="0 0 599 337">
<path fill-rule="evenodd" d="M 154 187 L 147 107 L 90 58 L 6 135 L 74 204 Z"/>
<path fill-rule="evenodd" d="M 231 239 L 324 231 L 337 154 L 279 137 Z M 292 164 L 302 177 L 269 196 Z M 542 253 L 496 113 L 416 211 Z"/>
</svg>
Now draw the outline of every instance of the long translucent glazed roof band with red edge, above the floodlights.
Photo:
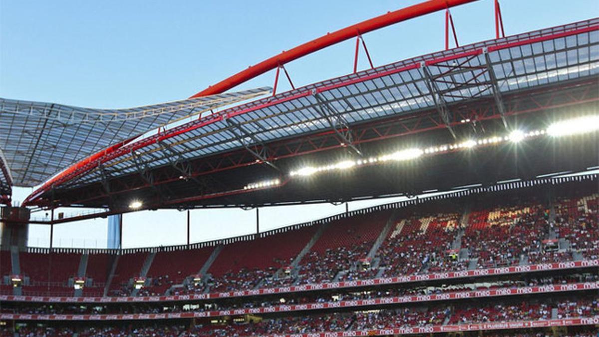
<svg viewBox="0 0 599 337">
<path fill-rule="evenodd" d="M 299 137 L 337 125 L 441 109 L 495 94 L 596 77 L 599 19 L 534 31 L 407 59 L 282 92 L 166 130 L 102 158 L 104 173 L 119 177 L 152 169 L 173 151 L 195 159 L 243 146 Z M 496 92 L 497 91 L 497 92 Z M 131 148 L 135 147 L 135 154 Z M 129 152 L 128 152 L 129 151 Z M 98 182 L 89 167 L 63 183 L 69 188 Z"/>
</svg>

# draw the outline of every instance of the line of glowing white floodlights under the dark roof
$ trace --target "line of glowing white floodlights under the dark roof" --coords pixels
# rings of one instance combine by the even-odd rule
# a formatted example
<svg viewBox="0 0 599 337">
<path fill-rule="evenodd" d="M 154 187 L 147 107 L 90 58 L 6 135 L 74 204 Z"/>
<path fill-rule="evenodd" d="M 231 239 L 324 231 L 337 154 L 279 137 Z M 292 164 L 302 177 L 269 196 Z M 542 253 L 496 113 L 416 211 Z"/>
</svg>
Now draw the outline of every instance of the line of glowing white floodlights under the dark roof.
<svg viewBox="0 0 599 337">
<path fill-rule="evenodd" d="M 565 121 L 555 122 L 545 130 L 513 130 L 505 136 L 494 136 L 483 139 L 468 139 L 462 142 L 444 144 L 439 146 L 431 146 L 425 149 L 409 148 L 400 151 L 392 152 L 391 154 L 380 155 L 379 157 L 363 158 L 359 160 L 343 160 L 338 163 L 332 163 L 325 166 L 306 166 L 301 169 L 291 171 L 290 177 L 305 177 L 316 173 L 335 170 L 348 170 L 353 167 L 373 165 L 377 163 L 386 163 L 390 161 L 409 161 L 421 157 L 422 155 L 436 154 L 439 152 L 460 151 L 463 149 L 471 149 L 476 146 L 497 145 L 499 143 L 519 143 L 524 139 L 539 137 L 539 136 L 572 136 L 576 134 L 585 134 L 599 130 L 599 115 L 584 116 L 580 118 L 567 119 Z M 270 188 L 281 185 L 280 179 L 264 180 L 256 183 L 249 183 L 243 189 L 261 189 Z M 141 209 L 143 203 L 139 200 L 134 200 L 129 204 L 131 209 Z"/>
</svg>

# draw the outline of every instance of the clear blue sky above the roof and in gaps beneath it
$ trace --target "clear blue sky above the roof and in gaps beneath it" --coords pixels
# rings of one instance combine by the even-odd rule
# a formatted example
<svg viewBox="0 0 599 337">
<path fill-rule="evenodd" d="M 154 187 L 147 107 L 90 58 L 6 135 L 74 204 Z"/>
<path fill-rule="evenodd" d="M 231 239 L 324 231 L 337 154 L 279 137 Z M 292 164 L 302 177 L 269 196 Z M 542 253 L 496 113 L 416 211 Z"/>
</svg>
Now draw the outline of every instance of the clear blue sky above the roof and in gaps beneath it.
<svg viewBox="0 0 599 337">
<path fill-rule="evenodd" d="M 0 0 L 0 97 L 86 107 L 131 107 L 189 97 L 250 64 L 419 1 Z M 599 15 L 597 1 L 501 1 L 506 34 Z M 492 0 L 452 9 L 461 44 L 494 37 Z M 443 48 L 443 13 L 364 35 L 375 65 Z M 292 62 L 296 85 L 349 73 L 353 41 Z M 361 67 L 366 67 L 364 55 Z M 272 86 L 274 73 L 239 88 Z M 282 82 L 282 89 L 288 85 Z M 29 190 L 17 189 L 15 200 Z M 353 208 L 361 205 L 352 205 Z M 308 211 L 305 209 L 308 207 Z M 340 212 L 329 205 L 264 210 L 263 228 Z M 254 213 L 194 211 L 192 240 L 250 233 Z M 105 219 L 56 226 L 55 245 L 105 244 Z M 184 213 L 125 215 L 125 246 L 183 243 Z M 83 229 L 82 229 L 83 228 Z M 30 243 L 47 245 L 46 227 Z"/>
</svg>

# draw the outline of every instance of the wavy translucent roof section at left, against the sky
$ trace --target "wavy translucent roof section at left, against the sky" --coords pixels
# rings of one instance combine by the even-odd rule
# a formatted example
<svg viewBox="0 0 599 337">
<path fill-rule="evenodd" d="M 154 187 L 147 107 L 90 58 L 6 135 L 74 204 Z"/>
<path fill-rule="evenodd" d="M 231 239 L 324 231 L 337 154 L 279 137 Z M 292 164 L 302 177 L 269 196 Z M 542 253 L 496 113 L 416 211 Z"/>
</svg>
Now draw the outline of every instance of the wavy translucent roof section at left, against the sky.
<svg viewBox="0 0 599 337">
<path fill-rule="evenodd" d="M 39 185 L 78 160 L 170 122 L 267 92 L 257 88 L 130 109 L 0 98 L 0 194 L 10 192 L 10 185 Z"/>
</svg>

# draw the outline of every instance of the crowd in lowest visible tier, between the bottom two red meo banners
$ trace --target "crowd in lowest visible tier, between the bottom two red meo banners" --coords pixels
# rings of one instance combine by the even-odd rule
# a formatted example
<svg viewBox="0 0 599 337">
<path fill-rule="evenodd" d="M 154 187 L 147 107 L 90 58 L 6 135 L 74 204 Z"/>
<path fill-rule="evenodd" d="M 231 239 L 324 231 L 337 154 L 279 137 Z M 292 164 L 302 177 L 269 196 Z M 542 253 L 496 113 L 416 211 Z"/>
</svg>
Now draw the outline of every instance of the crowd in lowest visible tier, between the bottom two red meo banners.
<svg viewBox="0 0 599 337">
<path fill-rule="evenodd" d="M 294 315 L 292 317 L 255 319 L 250 323 L 222 325 L 150 324 L 147 326 L 88 327 L 78 330 L 78 336 L 251 336 L 335 332 L 343 330 L 386 329 L 442 324 L 468 324 L 506 321 L 549 320 L 556 308 L 558 318 L 593 317 L 599 315 L 599 298 L 526 300 L 521 303 L 489 303 L 488 305 L 455 304 L 421 308 L 373 309 L 358 312 Z M 225 322 L 223 322 L 225 323 Z M 2 329 L 2 336 L 8 336 Z M 71 336 L 71 327 L 19 327 L 20 336 Z"/>
</svg>

